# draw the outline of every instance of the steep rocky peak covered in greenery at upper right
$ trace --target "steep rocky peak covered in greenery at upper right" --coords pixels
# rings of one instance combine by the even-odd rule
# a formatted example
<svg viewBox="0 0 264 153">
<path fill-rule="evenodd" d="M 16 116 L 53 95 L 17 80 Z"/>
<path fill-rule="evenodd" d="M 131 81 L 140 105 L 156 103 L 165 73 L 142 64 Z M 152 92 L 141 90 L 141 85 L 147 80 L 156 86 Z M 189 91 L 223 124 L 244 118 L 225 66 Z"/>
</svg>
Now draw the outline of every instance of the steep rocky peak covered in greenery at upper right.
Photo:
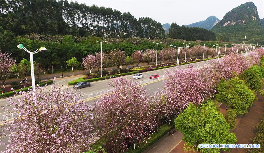
<svg viewBox="0 0 264 153">
<path fill-rule="evenodd" d="M 257 7 L 253 2 L 246 2 L 226 13 L 223 19 L 213 26 L 216 38 L 225 38 L 235 43 L 241 43 L 246 37 L 246 43 L 264 43 L 264 28 L 260 23 Z M 263 21 L 262 21 L 263 22 Z"/>
</svg>

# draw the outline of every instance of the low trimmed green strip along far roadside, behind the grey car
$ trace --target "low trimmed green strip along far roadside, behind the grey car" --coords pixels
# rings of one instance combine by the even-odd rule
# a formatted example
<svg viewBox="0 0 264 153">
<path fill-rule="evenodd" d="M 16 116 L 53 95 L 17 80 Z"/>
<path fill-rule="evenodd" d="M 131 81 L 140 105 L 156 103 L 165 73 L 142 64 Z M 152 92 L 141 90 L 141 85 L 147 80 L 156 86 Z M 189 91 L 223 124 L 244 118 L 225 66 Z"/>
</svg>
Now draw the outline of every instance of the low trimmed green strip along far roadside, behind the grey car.
<svg viewBox="0 0 264 153">
<path fill-rule="evenodd" d="M 123 76 L 123 75 L 130 75 L 130 74 L 136 74 L 136 73 L 138 73 L 138 71 L 132 71 L 132 72 L 128 72 L 128 73 L 121 73 L 120 75 Z M 115 75 L 108 75 L 108 76 L 99 77 L 99 78 L 83 79 L 83 78 L 86 78 L 86 76 L 85 76 L 85 77 L 76 79 L 75 82 L 74 82 L 74 80 L 73 81 L 70 81 L 70 82 L 68 82 L 68 84 L 69 85 L 76 85 L 77 83 L 83 82 L 83 81 L 93 82 L 93 81 L 99 81 L 99 80 L 109 79 L 110 77 L 111 78 L 114 78 L 114 77 L 118 77 L 118 76 L 119 76 L 119 74 L 115 74 Z"/>
</svg>

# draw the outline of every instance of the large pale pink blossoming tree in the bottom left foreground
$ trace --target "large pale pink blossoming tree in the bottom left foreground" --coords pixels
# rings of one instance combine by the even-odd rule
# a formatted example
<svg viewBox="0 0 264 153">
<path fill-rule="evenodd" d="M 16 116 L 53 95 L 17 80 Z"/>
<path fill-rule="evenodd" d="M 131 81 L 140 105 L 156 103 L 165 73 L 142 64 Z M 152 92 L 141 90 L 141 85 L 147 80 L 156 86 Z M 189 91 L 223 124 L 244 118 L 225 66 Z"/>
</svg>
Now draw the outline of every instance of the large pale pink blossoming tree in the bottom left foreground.
<svg viewBox="0 0 264 153">
<path fill-rule="evenodd" d="M 6 152 L 88 151 L 95 140 L 94 116 L 79 94 L 56 85 L 51 90 L 38 86 L 35 94 L 19 92 L 18 99 L 8 99 L 14 107 L 8 111 L 18 115 L 1 127 L 1 137 L 10 137 Z"/>
</svg>

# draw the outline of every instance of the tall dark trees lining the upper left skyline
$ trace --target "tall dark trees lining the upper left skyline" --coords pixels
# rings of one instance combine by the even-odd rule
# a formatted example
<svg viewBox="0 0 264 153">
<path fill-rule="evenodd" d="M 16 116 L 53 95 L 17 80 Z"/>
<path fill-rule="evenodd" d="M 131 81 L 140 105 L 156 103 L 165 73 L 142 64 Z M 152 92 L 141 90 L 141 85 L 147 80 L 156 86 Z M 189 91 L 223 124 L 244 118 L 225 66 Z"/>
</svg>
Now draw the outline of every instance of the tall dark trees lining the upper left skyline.
<svg viewBox="0 0 264 153">
<path fill-rule="evenodd" d="M 148 17 L 138 20 L 129 12 L 87 6 L 67 0 L 2 0 L 0 26 L 15 36 L 63 34 L 112 38 L 165 38 L 162 25 Z"/>
</svg>

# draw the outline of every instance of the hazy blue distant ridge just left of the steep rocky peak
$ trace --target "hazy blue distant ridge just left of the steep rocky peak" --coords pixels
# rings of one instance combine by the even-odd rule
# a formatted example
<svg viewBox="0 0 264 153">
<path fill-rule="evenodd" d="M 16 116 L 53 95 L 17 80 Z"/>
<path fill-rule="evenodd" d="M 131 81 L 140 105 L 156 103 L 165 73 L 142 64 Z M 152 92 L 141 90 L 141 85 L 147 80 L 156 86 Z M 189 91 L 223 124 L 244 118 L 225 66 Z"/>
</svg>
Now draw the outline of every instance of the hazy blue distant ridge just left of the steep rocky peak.
<svg viewBox="0 0 264 153">
<path fill-rule="evenodd" d="M 218 23 L 220 20 L 216 18 L 215 16 L 209 16 L 204 21 L 195 22 L 189 25 L 184 25 L 186 27 L 201 27 L 207 30 L 211 30 L 216 23 Z"/>
</svg>

